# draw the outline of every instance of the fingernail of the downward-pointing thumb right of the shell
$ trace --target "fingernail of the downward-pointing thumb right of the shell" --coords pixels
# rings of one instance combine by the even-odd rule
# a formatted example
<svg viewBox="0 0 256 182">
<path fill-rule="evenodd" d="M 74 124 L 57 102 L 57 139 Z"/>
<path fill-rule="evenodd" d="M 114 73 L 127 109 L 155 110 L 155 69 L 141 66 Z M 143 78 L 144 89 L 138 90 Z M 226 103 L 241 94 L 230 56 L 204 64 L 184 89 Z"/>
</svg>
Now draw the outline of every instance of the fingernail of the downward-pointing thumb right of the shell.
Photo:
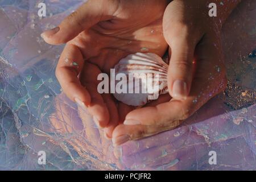
<svg viewBox="0 0 256 182">
<path fill-rule="evenodd" d="M 174 85 L 172 85 L 172 94 L 177 100 L 186 100 L 188 88 L 186 82 L 182 80 L 175 80 Z"/>
</svg>

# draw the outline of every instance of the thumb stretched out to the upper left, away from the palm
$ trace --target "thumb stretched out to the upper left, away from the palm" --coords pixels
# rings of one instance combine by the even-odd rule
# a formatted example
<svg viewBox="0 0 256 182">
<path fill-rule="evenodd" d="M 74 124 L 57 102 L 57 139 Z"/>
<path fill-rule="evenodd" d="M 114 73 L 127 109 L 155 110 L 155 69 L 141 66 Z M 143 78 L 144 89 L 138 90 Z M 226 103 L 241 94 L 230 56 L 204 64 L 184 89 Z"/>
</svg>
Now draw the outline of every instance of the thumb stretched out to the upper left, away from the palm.
<svg viewBox="0 0 256 182">
<path fill-rule="evenodd" d="M 57 45 L 67 43 L 80 32 L 87 30 L 102 20 L 108 20 L 117 10 L 115 1 L 89 0 L 75 12 L 68 15 L 58 27 L 47 30 L 41 34 L 49 44 Z"/>
</svg>

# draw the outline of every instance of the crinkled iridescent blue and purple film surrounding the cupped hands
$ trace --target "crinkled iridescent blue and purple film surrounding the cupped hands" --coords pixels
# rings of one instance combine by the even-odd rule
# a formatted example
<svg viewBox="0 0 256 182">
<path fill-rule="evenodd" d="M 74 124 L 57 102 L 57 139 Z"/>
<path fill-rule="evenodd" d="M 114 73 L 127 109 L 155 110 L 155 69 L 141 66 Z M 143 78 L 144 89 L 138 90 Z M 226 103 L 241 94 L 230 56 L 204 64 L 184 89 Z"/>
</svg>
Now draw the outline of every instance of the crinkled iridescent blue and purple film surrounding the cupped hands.
<svg viewBox="0 0 256 182">
<path fill-rule="evenodd" d="M 223 27 L 229 85 L 182 126 L 114 148 L 86 111 L 61 92 L 63 46 L 40 34 L 82 1 L 0 0 L 0 169 L 256 169 L 256 3 L 243 1 Z M 38 152 L 46 151 L 46 165 Z M 209 151 L 217 164 L 210 165 Z"/>
</svg>

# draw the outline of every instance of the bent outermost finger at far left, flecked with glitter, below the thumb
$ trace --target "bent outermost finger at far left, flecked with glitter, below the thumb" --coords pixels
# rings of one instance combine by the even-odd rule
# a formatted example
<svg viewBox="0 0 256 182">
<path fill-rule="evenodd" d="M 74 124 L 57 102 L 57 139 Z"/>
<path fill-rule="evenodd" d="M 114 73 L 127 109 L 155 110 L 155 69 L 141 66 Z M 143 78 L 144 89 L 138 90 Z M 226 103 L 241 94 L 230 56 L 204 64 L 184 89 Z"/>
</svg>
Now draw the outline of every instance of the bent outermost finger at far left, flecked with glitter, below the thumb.
<svg viewBox="0 0 256 182">
<path fill-rule="evenodd" d="M 90 104 L 90 94 L 78 78 L 82 67 L 84 67 L 84 60 L 79 48 L 67 44 L 57 64 L 56 77 L 69 99 L 85 108 Z"/>
</svg>

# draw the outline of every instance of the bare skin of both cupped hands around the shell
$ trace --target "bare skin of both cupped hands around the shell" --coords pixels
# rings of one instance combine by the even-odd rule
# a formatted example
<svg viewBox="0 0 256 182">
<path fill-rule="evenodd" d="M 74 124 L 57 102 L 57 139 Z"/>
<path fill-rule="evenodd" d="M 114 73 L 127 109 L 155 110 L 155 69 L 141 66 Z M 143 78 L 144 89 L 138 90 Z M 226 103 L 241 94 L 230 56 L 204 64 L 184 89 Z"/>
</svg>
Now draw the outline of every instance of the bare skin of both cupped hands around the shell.
<svg viewBox="0 0 256 182">
<path fill-rule="evenodd" d="M 209 2 L 204 0 L 174 0 L 169 5 L 153 0 L 88 1 L 42 37 L 49 44 L 67 43 L 56 69 L 65 94 L 87 107 L 106 136 L 119 145 L 173 129 L 225 89 L 220 30 L 238 2 L 217 6 L 220 19 L 208 16 Z M 111 94 L 98 94 L 99 73 L 109 73 L 120 59 L 144 47 L 163 56 L 166 42 L 170 95 L 135 109 Z M 174 88 L 176 80 L 186 86 Z"/>
</svg>

